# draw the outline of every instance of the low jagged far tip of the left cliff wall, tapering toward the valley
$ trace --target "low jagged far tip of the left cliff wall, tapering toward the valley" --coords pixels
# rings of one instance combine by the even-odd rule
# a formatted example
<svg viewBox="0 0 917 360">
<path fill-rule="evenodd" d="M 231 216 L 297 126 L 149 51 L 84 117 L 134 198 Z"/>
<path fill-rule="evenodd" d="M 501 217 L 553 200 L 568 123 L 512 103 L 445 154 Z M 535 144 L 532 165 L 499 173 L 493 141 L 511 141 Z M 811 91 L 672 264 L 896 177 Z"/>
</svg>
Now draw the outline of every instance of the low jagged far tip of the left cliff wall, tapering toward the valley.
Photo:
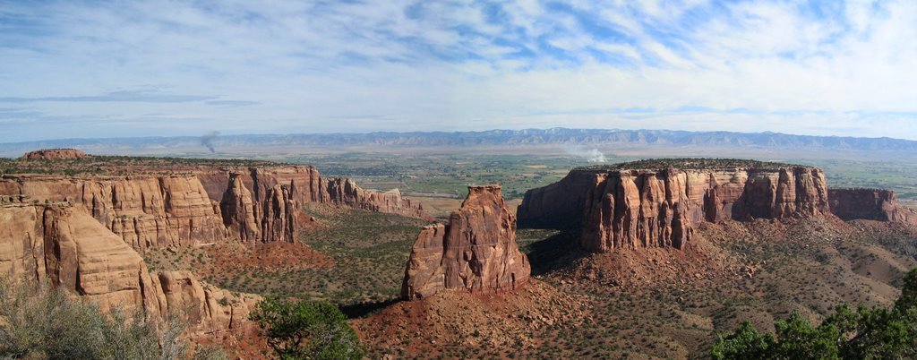
<svg viewBox="0 0 917 360">
<path fill-rule="evenodd" d="M 346 205 L 355 209 L 379 213 L 398 213 L 404 216 L 426 218 L 424 208 L 414 205 L 402 197 L 401 191 L 394 189 L 386 192 L 365 191 L 356 182 L 346 178 L 328 180 L 327 193 L 330 202 Z"/>
</svg>

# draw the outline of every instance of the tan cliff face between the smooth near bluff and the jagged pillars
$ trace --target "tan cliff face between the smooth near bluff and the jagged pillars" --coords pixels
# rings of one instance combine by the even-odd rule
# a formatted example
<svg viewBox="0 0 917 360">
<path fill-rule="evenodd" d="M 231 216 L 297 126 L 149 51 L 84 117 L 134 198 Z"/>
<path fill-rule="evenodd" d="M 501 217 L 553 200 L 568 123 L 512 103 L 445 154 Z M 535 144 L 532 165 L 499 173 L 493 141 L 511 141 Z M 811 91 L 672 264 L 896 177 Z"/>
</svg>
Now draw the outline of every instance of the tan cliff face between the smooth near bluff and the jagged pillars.
<svg viewBox="0 0 917 360">
<path fill-rule="evenodd" d="M 0 190 L 35 202 L 71 202 L 138 251 L 226 239 L 217 205 L 193 176 L 6 177 Z"/>
</svg>

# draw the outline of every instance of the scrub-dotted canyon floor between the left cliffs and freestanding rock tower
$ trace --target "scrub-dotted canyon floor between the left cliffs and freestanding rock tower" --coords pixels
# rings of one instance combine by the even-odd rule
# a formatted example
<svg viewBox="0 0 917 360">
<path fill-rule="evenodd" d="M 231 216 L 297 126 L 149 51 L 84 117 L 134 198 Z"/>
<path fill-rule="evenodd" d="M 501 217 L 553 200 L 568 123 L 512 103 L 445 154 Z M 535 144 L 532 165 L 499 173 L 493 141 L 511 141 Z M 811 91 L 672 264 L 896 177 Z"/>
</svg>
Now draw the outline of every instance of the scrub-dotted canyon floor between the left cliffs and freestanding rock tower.
<svg viewBox="0 0 917 360">
<path fill-rule="evenodd" d="M 150 268 L 191 270 L 223 289 L 341 306 L 399 296 L 404 261 L 425 221 L 387 213 L 308 204 L 319 226 L 296 244 L 238 243 L 154 248 Z"/>
</svg>

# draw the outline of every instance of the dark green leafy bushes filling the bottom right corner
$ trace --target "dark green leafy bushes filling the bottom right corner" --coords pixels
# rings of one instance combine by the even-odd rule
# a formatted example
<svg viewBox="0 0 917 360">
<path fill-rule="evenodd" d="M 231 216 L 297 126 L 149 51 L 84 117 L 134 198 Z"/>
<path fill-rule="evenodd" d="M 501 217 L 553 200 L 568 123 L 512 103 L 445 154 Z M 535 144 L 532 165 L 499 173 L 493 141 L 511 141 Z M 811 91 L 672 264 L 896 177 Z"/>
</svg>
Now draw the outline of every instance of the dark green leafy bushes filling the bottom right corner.
<svg viewBox="0 0 917 360">
<path fill-rule="evenodd" d="M 818 326 L 799 314 L 774 323 L 776 336 L 749 322 L 719 338 L 714 359 L 914 359 L 917 358 L 917 268 L 904 277 L 894 306 L 853 311 L 838 306 Z"/>
</svg>

